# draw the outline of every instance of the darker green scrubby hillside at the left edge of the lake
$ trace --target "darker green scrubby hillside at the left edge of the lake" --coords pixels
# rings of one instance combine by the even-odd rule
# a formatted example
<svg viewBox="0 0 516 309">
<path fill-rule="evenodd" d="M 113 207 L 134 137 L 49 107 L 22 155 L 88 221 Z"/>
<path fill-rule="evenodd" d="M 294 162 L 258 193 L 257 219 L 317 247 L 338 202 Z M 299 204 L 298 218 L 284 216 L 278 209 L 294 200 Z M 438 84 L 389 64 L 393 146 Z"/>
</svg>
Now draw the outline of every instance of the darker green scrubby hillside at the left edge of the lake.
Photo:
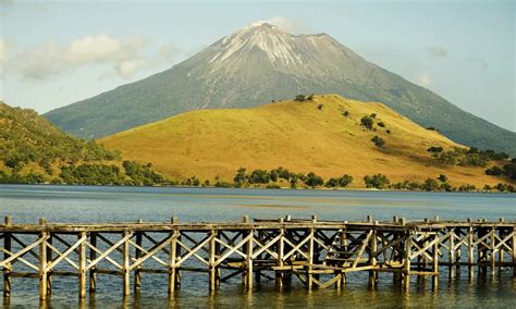
<svg viewBox="0 0 516 309">
<path fill-rule="evenodd" d="M 155 184 L 147 166 L 74 138 L 33 110 L 0 102 L 0 183 Z"/>
</svg>

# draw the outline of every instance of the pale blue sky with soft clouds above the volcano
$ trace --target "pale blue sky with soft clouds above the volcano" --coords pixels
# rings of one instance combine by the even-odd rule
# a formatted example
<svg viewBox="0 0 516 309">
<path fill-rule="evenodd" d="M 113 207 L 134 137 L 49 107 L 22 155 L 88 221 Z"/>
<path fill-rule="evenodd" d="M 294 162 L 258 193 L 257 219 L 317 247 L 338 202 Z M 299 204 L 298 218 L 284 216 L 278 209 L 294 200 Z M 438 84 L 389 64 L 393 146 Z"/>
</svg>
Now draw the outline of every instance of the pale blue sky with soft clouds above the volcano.
<svg viewBox="0 0 516 309">
<path fill-rule="evenodd" d="M 516 132 L 516 1 L 0 0 L 0 99 L 40 113 L 170 69 L 256 21 L 327 33 Z"/>
</svg>

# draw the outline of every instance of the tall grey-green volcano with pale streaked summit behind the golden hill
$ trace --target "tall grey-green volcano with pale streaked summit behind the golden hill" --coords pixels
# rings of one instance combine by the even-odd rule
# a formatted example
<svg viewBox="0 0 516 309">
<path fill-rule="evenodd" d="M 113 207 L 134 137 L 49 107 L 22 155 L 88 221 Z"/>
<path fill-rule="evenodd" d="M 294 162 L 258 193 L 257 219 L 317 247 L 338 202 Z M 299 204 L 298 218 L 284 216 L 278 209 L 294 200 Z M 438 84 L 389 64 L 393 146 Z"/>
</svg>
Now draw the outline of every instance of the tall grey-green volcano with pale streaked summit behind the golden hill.
<svg viewBox="0 0 516 309">
<path fill-rule="evenodd" d="M 516 154 L 515 133 L 366 61 L 327 34 L 292 35 L 268 23 L 250 24 L 164 72 L 46 116 L 76 136 L 99 138 L 189 110 L 312 92 L 382 102 L 458 143 Z"/>
</svg>

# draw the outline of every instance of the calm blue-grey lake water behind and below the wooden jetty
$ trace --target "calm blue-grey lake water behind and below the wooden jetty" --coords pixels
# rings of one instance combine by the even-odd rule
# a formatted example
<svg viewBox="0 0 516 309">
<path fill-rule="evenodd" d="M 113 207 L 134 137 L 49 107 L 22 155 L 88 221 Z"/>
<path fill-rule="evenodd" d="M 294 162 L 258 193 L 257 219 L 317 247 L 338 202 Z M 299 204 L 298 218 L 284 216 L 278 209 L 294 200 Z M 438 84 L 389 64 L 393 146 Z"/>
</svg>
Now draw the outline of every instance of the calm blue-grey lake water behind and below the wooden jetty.
<svg viewBox="0 0 516 309">
<path fill-rule="evenodd" d="M 127 222 L 235 221 L 244 214 L 251 218 L 309 218 L 321 220 L 391 220 L 393 215 L 420 220 L 466 220 L 487 218 L 516 220 L 516 196 L 480 193 L 395 193 L 342 190 L 274 190 L 225 188 L 133 188 L 66 186 L 0 186 L 0 215 L 11 214 L 14 222 Z M 469 281 L 463 274 L 450 281 L 442 276 L 438 291 L 427 281 L 413 282 L 409 293 L 393 285 L 391 275 L 380 275 L 376 289 L 367 286 L 360 274 L 349 280 L 346 288 L 306 292 L 293 280 L 282 293 L 273 282 L 261 281 L 250 293 L 242 289 L 239 277 L 223 283 L 221 291 L 210 295 L 206 274 L 184 275 L 181 291 L 169 299 L 165 276 L 143 276 L 142 293 L 123 299 L 121 279 L 100 276 L 95 298 L 86 306 L 97 307 L 516 307 L 516 281 L 509 271 L 491 279 Z M 75 307 L 76 280 L 54 281 L 52 307 Z M 116 288 L 110 288 L 116 286 Z M 119 288 L 120 287 L 120 288 Z M 39 304 L 35 280 L 14 279 L 10 305 Z M 113 291 L 115 291 L 113 293 Z M 4 304 L 7 305 L 7 304 Z"/>
</svg>

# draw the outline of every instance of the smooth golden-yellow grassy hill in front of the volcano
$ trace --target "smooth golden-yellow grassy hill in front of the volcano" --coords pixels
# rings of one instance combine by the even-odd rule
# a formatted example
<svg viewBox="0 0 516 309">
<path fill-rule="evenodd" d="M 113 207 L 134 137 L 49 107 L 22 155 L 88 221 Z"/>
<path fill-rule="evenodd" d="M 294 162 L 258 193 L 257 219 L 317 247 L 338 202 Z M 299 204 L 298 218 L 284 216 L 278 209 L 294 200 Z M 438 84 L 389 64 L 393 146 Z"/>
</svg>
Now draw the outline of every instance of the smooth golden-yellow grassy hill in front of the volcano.
<svg viewBox="0 0 516 309">
<path fill-rule="evenodd" d="M 365 115 L 372 119 L 372 129 L 360 124 Z M 374 136 L 384 145 L 374 145 Z M 486 168 L 450 165 L 433 158 L 429 147 L 463 147 L 439 132 L 381 103 L 334 95 L 251 109 L 187 112 L 99 141 L 120 149 L 123 158 L 151 162 L 157 171 L 177 178 L 218 176 L 232 182 L 239 166 L 248 171 L 284 166 L 325 178 L 351 174 L 355 187 L 364 186 L 365 175 L 376 173 L 392 182 L 445 174 L 457 186 L 500 183 L 500 177 L 484 174 Z"/>
</svg>

